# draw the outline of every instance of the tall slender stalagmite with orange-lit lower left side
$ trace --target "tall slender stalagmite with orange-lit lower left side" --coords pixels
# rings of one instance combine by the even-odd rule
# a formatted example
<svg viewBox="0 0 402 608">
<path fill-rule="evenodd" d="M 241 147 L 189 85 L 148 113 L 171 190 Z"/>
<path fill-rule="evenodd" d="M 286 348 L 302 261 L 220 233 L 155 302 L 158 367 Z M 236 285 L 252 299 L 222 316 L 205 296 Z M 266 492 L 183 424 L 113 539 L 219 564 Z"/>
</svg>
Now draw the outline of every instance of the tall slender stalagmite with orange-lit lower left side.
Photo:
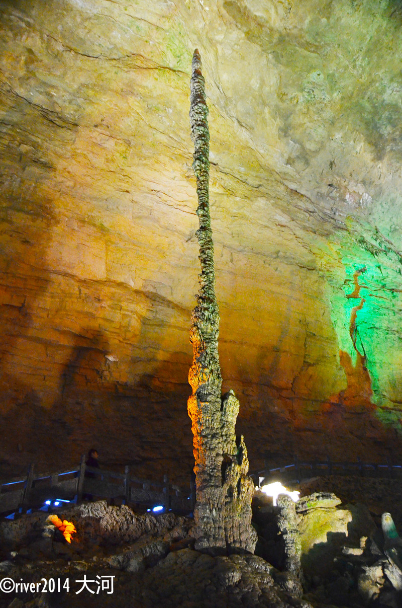
<svg viewBox="0 0 402 608">
<path fill-rule="evenodd" d="M 248 458 L 243 437 L 236 442 L 234 431 L 239 401 L 232 390 L 221 395 L 219 308 L 215 295 L 209 203 L 210 133 L 204 85 L 200 55 L 196 49 L 192 57 L 190 123 L 194 142 L 192 167 L 197 179 L 201 274 L 197 306 L 191 316 L 193 361 L 189 384 L 192 395 L 188 399 L 196 460 L 194 536 L 198 550 L 252 553 L 256 544 L 256 533 L 251 527 L 254 486 L 247 477 Z"/>
</svg>

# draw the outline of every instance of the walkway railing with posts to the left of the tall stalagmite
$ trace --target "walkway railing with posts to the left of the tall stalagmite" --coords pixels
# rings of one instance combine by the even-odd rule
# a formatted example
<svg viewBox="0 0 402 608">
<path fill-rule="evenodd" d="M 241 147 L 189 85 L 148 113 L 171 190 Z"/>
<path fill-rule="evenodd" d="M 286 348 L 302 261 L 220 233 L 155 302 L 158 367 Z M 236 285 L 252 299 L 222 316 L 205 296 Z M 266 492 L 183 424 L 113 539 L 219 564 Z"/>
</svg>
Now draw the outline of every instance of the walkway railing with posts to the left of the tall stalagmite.
<svg viewBox="0 0 402 608">
<path fill-rule="evenodd" d="M 162 505 L 165 511 L 188 513 L 195 503 L 194 488 L 182 491 L 169 483 L 164 475 L 163 482 L 140 479 L 131 474 L 128 466 L 124 473 L 106 471 L 86 465 L 81 458 L 80 467 L 70 471 L 56 472 L 35 477 L 34 465 L 30 465 L 26 479 L 4 483 L 0 486 L 0 514 L 29 508 L 39 508 L 46 500 L 119 500 L 129 505 L 152 508 Z"/>
</svg>

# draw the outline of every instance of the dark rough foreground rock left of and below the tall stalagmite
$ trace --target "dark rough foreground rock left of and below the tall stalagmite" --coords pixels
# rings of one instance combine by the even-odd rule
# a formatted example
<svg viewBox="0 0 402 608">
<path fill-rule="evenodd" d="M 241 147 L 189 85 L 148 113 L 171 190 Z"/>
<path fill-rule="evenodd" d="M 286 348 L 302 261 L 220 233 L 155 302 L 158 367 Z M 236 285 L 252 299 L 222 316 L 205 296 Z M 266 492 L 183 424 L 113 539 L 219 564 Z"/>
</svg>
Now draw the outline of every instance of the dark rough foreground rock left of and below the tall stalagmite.
<svg viewBox="0 0 402 608">
<path fill-rule="evenodd" d="M 67 545 L 60 537 L 49 536 L 46 517 L 46 513 L 30 514 L 4 522 L 0 572 L 27 584 L 42 577 L 48 581 L 60 579 L 62 589 L 54 593 L 41 593 L 42 587 L 1 592 L 0 608 L 9 608 L 12 602 L 13 608 L 81 608 L 89 605 L 92 596 L 97 606 L 105 608 L 311 607 L 276 585 L 271 575 L 274 568 L 260 557 L 245 554 L 214 558 L 192 548 L 178 548 L 177 541 L 189 540 L 193 520 L 171 513 L 142 516 L 124 506 L 90 503 L 66 509 L 60 516 L 77 527 Z M 12 553 L 11 537 L 17 548 Z M 38 539 L 46 542 L 46 551 Z M 80 592 L 84 576 L 87 587 Z M 113 593 L 107 593 L 106 588 L 97 592 L 103 577 L 114 577 Z M 66 579 L 68 590 L 63 589 Z"/>
</svg>

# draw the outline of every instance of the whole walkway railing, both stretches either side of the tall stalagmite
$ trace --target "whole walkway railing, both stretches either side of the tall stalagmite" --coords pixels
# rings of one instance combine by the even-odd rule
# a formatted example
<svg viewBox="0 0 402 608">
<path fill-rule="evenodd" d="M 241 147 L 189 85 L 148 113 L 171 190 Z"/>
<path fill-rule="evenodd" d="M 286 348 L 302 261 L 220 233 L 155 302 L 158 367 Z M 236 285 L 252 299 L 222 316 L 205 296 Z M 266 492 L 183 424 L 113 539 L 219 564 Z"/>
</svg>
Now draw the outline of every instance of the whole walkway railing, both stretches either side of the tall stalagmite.
<svg viewBox="0 0 402 608">
<path fill-rule="evenodd" d="M 324 475 L 401 479 L 402 465 L 392 465 L 390 462 L 385 465 L 364 463 L 359 459 L 356 462 L 338 462 L 332 461 L 330 457 L 322 461 L 302 461 L 295 457 L 290 465 L 266 468 L 251 474 L 256 485 L 260 481 L 299 483 L 302 479 Z M 182 491 L 169 483 L 167 475 L 163 477 L 163 482 L 140 479 L 131 474 L 128 466 L 124 473 L 91 468 L 86 465 L 83 456 L 77 469 L 35 477 L 34 466 L 30 465 L 26 479 L 0 485 L 0 514 L 15 511 L 24 513 L 29 508 L 43 506 L 46 500 L 53 502 L 61 499 L 80 503 L 90 497 L 97 500 L 115 499 L 124 504 L 150 508 L 162 505 L 165 511 L 171 509 L 189 513 L 195 505 L 195 488 L 191 484 L 188 491 Z"/>
</svg>

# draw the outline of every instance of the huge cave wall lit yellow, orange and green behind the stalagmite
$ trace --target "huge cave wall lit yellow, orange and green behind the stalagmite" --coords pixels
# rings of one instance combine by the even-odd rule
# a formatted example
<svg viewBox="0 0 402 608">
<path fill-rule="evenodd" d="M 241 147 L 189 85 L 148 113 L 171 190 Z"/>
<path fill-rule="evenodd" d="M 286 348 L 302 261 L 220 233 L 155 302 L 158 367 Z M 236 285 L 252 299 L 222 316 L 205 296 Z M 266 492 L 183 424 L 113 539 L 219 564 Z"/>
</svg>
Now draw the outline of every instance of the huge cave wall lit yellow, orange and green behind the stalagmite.
<svg viewBox="0 0 402 608">
<path fill-rule="evenodd" d="M 251 469 L 400 458 L 400 4 L 0 13 L 2 475 L 95 444 L 107 465 L 188 476 L 195 47 L 223 389 Z"/>
</svg>

